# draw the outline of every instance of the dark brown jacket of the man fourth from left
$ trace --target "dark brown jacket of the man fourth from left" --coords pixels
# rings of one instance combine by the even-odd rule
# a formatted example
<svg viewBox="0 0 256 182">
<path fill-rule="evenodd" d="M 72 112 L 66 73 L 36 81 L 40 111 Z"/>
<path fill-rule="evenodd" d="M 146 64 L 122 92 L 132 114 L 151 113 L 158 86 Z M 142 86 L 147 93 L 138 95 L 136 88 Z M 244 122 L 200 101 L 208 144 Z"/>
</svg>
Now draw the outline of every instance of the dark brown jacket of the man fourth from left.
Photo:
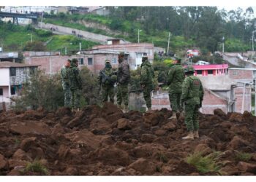
<svg viewBox="0 0 256 182">
<path fill-rule="evenodd" d="M 129 64 L 123 60 L 118 65 L 117 82 L 119 84 L 128 84 L 129 79 L 130 79 Z"/>
</svg>

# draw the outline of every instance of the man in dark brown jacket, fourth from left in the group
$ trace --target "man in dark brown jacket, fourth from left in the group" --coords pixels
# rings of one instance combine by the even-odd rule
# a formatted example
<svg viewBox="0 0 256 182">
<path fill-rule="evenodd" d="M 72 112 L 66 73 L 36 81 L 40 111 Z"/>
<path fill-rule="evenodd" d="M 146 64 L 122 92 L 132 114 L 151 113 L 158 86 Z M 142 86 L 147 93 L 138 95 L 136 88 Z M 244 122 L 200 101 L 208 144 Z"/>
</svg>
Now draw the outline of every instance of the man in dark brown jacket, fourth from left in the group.
<svg viewBox="0 0 256 182">
<path fill-rule="evenodd" d="M 128 111 L 129 92 L 128 84 L 130 79 L 129 65 L 124 61 L 124 52 L 120 52 L 118 55 L 118 70 L 117 70 L 117 103 L 121 108 L 121 103 L 124 102 L 124 112 Z"/>
</svg>

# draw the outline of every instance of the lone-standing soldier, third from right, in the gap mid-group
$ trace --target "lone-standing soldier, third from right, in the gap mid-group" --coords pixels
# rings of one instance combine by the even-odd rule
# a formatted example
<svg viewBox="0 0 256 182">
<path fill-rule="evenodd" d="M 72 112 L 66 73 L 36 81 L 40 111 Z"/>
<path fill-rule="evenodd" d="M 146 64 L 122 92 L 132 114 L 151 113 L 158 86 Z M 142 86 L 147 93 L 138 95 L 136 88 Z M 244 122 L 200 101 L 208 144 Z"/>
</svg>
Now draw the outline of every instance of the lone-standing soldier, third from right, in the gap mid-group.
<svg viewBox="0 0 256 182">
<path fill-rule="evenodd" d="M 148 57 L 143 56 L 142 64 L 140 66 L 140 85 L 143 90 L 144 100 L 146 101 L 147 111 L 151 110 L 151 91 L 154 90 L 154 70 Z"/>
</svg>

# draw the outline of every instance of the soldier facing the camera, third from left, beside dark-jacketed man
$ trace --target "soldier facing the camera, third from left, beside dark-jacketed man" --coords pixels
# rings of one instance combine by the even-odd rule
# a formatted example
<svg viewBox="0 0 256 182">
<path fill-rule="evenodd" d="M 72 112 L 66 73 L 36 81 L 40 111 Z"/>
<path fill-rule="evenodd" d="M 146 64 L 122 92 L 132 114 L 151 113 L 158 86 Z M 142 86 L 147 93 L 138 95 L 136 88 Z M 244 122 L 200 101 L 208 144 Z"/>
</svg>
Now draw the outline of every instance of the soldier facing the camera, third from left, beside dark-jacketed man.
<svg viewBox="0 0 256 182">
<path fill-rule="evenodd" d="M 105 61 L 105 68 L 99 72 L 99 85 L 102 87 L 102 101 L 114 103 L 114 84 L 116 83 L 116 75 L 110 64 L 110 60 Z"/>
</svg>

